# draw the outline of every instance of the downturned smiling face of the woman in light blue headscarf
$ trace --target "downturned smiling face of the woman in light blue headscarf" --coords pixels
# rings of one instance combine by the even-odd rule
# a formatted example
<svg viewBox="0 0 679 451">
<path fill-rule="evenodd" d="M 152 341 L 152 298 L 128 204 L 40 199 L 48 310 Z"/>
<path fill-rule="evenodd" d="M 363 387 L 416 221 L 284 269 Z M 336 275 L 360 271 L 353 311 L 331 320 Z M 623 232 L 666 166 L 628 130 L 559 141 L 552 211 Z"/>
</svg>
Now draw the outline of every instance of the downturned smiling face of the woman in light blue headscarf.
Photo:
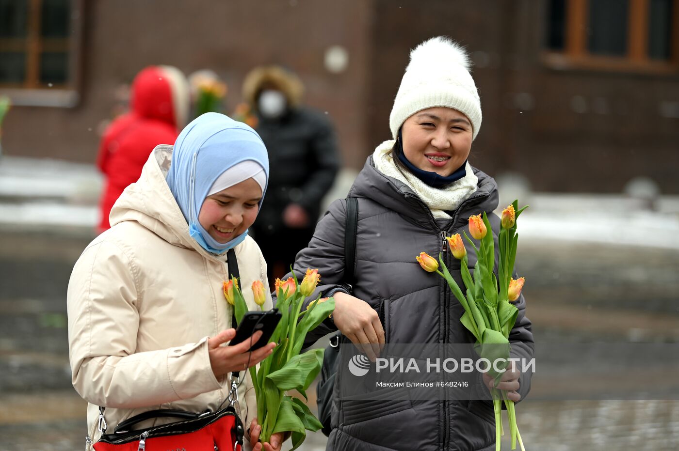
<svg viewBox="0 0 679 451">
<path fill-rule="evenodd" d="M 261 188 L 254 178 L 205 198 L 198 214 L 200 225 L 219 243 L 246 231 L 257 218 Z"/>
</svg>

